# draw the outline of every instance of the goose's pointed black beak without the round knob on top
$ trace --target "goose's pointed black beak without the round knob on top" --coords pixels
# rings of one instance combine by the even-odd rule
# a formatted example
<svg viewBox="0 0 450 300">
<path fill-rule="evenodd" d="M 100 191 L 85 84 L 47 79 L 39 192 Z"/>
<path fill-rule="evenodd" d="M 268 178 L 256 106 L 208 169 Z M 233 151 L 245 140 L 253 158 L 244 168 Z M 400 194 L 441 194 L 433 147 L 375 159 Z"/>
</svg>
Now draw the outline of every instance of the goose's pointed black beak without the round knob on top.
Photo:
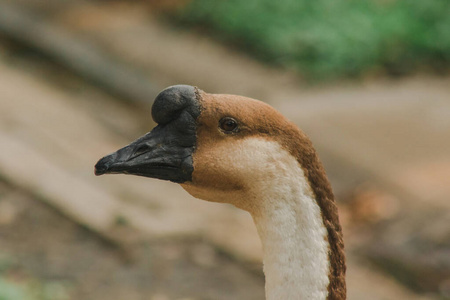
<svg viewBox="0 0 450 300">
<path fill-rule="evenodd" d="M 191 134 L 183 134 L 174 126 L 157 126 L 130 145 L 100 159 L 95 175 L 133 174 L 177 183 L 192 178 Z"/>
</svg>

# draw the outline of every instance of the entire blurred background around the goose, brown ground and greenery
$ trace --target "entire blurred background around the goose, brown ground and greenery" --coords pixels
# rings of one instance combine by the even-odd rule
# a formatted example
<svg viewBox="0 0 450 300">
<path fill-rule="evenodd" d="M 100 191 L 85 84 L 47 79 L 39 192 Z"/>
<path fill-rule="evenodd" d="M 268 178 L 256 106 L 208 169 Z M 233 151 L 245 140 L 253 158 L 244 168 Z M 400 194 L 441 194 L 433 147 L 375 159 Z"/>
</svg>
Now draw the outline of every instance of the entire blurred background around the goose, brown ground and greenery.
<svg viewBox="0 0 450 300">
<path fill-rule="evenodd" d="M 93 174 L 179 83 L 310 136 L 349 299 L 450 299 L 449 66 L 448 0 L 0 0 L 0 299 L 263 299 L 247 213 Z"/>
</svg>

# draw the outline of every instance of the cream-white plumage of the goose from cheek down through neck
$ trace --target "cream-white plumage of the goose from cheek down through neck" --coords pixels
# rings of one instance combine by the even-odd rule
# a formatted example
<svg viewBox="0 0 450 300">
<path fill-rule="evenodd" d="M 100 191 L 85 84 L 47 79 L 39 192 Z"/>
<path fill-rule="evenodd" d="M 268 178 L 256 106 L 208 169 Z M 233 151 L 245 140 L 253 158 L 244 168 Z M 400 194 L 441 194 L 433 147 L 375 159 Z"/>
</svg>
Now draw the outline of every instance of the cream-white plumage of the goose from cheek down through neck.
<svg viewBox="0 0 450 300">
<path fill-rule="evenodd" d="M 183 187 L 197 198 L 233 203 L 250 212 L 262 241 L 268 300 L 326 299 L 327 230 L 297 159 L 278 142 L 263 138 L 225 146 L 223 152 L 202 156 L 203 163 L 208 169 L 226 166 L 233 180 L 245 184 L 242 189 Z M 209 156 L 213 159 L 206 163 Z M 216 157 L 221 157 L 220 164 Z M 211 177 L 228 170 L 214 169 Z"/>
</svg>

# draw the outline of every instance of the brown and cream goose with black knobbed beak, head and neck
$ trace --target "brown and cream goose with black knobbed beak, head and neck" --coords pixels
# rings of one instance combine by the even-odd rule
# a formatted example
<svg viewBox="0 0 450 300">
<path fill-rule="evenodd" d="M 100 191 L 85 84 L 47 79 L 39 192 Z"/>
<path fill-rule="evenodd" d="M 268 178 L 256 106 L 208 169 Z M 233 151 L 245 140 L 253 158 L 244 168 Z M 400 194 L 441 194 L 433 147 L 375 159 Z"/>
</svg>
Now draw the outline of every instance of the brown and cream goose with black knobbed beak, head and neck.
<svg viewBox="0 0 450 300">
<path fill-rule="evenodd" d="M 175 85 L 156 97 L 149 133 L 100 159 L 95 174 L 180 184 L 250 213 L 268 300 L 345 299 L 345 255 L 333 192 L 310 140 L 281 113 L 243 96 Z"/>
</svg>

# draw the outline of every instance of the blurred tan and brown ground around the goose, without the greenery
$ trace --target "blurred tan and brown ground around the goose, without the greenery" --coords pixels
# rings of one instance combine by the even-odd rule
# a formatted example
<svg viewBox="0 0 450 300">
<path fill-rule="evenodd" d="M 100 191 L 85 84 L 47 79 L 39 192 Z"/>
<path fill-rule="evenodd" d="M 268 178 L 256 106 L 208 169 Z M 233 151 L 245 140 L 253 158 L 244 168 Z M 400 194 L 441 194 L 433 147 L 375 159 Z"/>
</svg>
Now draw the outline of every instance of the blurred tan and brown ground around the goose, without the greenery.
<svg viewBox="0 0 450 300">
<path fill-rule="evenodd" d="M 21 2 L 155 90 L 188 83 L 278 108 L 310 135 L 340 200 L 349 299 L 448 297 L 448 78 L 307 88 L 139 5 Z M 261 299 L 246 213 L 170 183 L 93 176 L 98 158 L 152 126 L 154 95 L 110 93 L 99 74 L 70 67 L 76 56 L 24 41 L 0 40 L 0 256 L 12 261 L 3 280 L 56 286 L 61 299 Z"/>
</svg>

